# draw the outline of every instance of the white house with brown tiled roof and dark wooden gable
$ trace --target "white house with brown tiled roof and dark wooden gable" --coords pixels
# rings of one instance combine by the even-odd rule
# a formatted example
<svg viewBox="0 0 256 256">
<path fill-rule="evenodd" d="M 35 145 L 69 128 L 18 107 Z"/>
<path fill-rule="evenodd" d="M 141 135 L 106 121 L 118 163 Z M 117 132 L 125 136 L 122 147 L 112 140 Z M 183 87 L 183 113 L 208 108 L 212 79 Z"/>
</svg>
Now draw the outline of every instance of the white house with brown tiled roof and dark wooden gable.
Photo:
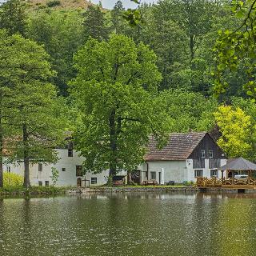
<svg viewBox="0 0 256 256">
<path fill-rule="evenodd" d="M 157 149 L 151 138 L 145 164 L 139 166 L 140 182 L 156 179 L 159 184 L 195 182 L 197 177 L 221 177 L 218 167 L 225 154 L 208 133 L 170 134 L 167 145 Z"/>
</svg>

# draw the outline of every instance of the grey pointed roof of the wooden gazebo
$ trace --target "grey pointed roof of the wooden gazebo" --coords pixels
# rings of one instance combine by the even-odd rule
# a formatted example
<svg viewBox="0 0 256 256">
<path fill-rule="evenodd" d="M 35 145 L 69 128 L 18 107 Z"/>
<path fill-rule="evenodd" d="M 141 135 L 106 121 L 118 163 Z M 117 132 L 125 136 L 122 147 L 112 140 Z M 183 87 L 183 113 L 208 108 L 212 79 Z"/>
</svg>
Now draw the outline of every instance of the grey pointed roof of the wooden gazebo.
<svg viewBox="0 0 256 256">
<path fill-rule="evenodd" d="M 218 168 L 218 170 L 256 170 L 256 164 L 245 158 L 234 158 L 225 166 Z"/>
</svg>

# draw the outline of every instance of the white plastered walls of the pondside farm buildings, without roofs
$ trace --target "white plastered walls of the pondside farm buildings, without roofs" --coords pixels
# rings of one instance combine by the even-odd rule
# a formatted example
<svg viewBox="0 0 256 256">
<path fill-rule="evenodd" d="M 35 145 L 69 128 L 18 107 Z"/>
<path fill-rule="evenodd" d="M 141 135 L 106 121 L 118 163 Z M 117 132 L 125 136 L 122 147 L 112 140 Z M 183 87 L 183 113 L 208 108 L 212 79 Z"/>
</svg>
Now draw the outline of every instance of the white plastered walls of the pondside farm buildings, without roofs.
<svg viewBox="0 0 256 256">
<path fill-rule="evenodd" d="M 101 186 L 106 184 L 108 170 L 101 174 L 86 173 L 85 177 L 77 176 L 77 166 L 82 166 L 85 158 L 79 156 L 78 152 L 73 151 L 73 156 L 68 156 L 67 149 L 58 150 L 58 162 L 56 164 L 42 164 L 40 167 L 38 164 L 30 166 L 30 182 L 32 186 L 48 186 L 52 184 L 51 170 L 52 167 L 58 170 L 58 182 L 57 186 L 77 186 L 80 182 L 82 186 Z M 220 165 L 226 164 L 226 159 L 221 159 Z M 174 181 L 175 183 L 182 182 L 195 182 L 196 174 L 195 170 L 198 170 L 198 174 L 202 174 L 202 177 L 210 178 L 211 171 L 209 168 L 209 159 L 205 159 L 206 168 L 193 168 L 193 159 L 186 159 L 182 161 L 154 161 L 146 162 L 142 166 L 138 166 L 138 170 L 141 170 L 141 182 L 147 179 L 155 179 L 159 184 L 166 184 L 166 182 Z M 18 162 L 16 165 L 4 166 L 4 171 L 14 172 L 16 174 L 24 174 L 23 162 Z M 215 174 L 215 173 L 214 173 Z M 217 171 L 218 178 L 221 178 L 221 171 Z M 122 171 L 119 175 L 126 175 L 126 171 Z M 147 177 L 148 176 L 148 177 Z M 224 173 L 226 177 L 226 173 Z M 86 184 L 85 184 L 86 180 Z"/>
</svg>

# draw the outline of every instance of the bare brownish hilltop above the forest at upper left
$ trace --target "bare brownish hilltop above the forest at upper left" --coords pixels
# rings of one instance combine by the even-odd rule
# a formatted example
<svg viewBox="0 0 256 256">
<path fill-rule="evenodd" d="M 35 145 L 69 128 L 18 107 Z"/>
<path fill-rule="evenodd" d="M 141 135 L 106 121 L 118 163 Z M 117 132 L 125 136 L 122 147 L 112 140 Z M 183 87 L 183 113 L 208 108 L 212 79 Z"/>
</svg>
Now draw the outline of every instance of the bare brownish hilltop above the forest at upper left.
<svg viewBox="0 0 256 256">
<path fill-rule="evenodd" d="M 54 9 L 84 9 L 91 4 L 90 1 L 86 0 L 27 0 L 27 3 L 34 10 L 49 7 Z"/>
</svg>

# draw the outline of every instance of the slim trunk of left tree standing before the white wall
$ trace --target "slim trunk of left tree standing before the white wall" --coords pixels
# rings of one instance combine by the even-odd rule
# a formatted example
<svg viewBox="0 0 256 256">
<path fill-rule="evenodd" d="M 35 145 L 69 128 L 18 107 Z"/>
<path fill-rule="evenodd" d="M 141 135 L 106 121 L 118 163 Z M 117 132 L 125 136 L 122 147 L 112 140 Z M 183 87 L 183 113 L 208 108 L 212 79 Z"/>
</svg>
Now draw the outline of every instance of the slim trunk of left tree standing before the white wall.
<svg viewBox="0 0 256 256">
<path fill-rule="evenodd" d="M 26 124 L 22 125 L 23 131 L 23 160 L 24 160 L 24 183 L 23 186 L 26 188 L 30 187 L 30 158 L 28 150 L 28 138 L 29 134 L 27 133 Z"/>
</svg>

